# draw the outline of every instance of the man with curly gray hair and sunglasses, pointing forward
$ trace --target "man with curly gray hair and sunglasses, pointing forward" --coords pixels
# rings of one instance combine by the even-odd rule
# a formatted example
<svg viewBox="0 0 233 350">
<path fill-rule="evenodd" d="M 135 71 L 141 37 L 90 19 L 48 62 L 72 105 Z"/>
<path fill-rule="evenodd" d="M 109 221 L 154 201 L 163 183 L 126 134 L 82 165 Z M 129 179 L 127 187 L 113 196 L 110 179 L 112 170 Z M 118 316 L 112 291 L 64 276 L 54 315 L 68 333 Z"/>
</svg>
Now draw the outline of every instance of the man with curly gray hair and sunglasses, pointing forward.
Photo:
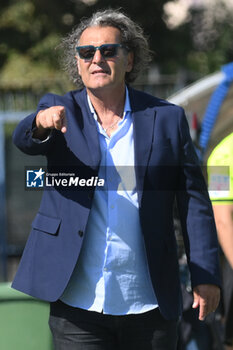
<svg viewBox="0 0 233 350">
<path fill-rule="evenodd" d="M 42 97 L 13 138 L 61 176 L 72 166 L 78 177 L 69 190 L 66 178 L 45 188 L 13 287 L 51 303 L 56 350 L 175 350 L 175 199 L 200 320 L 216 309 L 220 284 L 212 208 L 184 111 L 130 87 L 150 50 L 121 11 L 94 13 L 61 47 L 81 89 Z"/>
</svg>

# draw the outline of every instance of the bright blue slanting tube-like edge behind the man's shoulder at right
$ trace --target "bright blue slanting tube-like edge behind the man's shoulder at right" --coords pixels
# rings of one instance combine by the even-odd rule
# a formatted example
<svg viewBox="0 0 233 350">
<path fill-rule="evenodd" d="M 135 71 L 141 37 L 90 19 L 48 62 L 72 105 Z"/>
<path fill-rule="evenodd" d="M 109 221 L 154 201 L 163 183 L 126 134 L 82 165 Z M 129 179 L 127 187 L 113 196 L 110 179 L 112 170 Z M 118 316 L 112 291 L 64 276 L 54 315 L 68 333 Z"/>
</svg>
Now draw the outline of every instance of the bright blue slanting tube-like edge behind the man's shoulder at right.
<svg viewBox="0 0 233 350">
<path fill-rule="evenodd" d="M 233 82 L 233 63 L 228 63 L 222 66 L 221 70 L 224 73 L 224 78 L 213 92 L 202 120 L 202 130 L 199 144 L 203 150 L 203 154 L 208 146 L 210 135 L 222 103 L 229 91 L 231 83 Z"/>
</svg>

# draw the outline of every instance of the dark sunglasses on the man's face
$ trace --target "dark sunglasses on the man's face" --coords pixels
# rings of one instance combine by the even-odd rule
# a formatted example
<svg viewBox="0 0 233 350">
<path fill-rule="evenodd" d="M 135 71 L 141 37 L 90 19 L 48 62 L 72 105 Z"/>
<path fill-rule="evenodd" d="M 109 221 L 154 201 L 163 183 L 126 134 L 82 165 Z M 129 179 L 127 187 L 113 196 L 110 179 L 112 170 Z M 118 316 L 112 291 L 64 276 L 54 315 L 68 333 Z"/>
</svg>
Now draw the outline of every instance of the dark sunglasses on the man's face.
<svg viewBox="0 0 233 350">
<path fill-rule="evenodd" d="M 96 50 L 100 50 L 101 56 L 107 59 L 115 57 L 118 53 L 119 47 L 126 49 L 126 47 L 122 44 L 103 44 L 100 46 L 77 46 L 76 51 L 81 59 L 91 60 L 94 57 Z"/>
</svg>

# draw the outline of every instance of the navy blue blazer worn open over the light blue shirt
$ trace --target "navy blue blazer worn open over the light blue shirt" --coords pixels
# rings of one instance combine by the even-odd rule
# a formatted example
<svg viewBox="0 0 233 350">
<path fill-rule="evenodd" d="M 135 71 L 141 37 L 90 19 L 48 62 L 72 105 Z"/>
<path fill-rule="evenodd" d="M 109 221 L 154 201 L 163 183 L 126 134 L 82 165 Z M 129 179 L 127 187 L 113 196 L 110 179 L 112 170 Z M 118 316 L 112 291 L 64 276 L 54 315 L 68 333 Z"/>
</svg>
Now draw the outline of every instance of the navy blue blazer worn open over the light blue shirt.
<svg viewBox="0 0 233 350">
<path fill-rule="evenodd" d="M 193 287 L 220 285 L 212 207 L 183 109 L 132 88 L 129 96 L 139 213 L 150 276 L 161 313 L 174 319 L 182 310 L 174 201 Z M 49 140 L 35 143 L 32 130 L 37 112 L 55 105 L 66 108 L 67 132 L 53 130 Z M 72 165 L 98 173 L 98 133 L 85 89 L 65 96 L 45 95 L 36 113 L 19 123 L 13 140 L 27 154 L 45 155 L 48 166 L 64 171 Z M 94 188 L 44 191 L 13 288 L 47 301 L 59 299 L 80 253 L 93 192 Z"/>
</svg>

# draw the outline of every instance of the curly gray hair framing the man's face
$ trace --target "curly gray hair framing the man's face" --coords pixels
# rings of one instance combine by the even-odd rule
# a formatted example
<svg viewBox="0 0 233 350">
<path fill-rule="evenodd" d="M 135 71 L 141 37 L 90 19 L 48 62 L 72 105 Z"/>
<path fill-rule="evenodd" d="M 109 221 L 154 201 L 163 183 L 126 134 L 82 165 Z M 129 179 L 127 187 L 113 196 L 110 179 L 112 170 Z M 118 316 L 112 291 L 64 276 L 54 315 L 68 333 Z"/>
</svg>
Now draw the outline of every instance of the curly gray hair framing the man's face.
<svg viewBox="0 0 233 350">
<path fill-rule="evenodd" d="M 78 73 L 75 59 L 75 47 L 81 34 L 88 27 L 115 27 L 121 32 L 122 44 L 134 54 L 134 64 L 130 72 L 125 75 L 126 83 L 133 82 L 148 67 L 151 61 L 151 51 L 148 41 L 142 28 L 133 22 L 128 16 L 119 10 L 104 10 L 95 12 L 90 18 L 83 19 L 71 33 L 64 37 L 59 47 L 62 49 L 61 63 L 65 71 L 69 74 L 73 83 L 78 87 L 83 87 L 81 76 Z"/>
</svg>

